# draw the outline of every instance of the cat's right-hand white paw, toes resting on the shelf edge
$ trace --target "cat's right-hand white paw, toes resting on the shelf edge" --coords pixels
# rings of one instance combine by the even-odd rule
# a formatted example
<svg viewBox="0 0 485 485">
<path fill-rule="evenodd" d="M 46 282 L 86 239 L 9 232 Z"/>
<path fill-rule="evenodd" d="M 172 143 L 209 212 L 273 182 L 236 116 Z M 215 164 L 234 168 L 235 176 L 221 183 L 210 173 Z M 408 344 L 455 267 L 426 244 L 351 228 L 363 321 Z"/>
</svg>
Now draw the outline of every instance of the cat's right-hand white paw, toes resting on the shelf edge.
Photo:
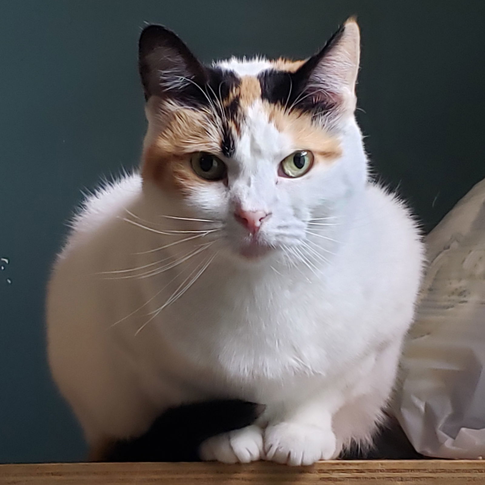
<svg viewBox="0 0 485 485">
<path fill-rule="evenodd" d="M 282 422 L 266 428 L 264 453 L 266 460 L 301 466 L 312 465 L 318 460 L 331 460 L 338 455 L 338 450 L 331 430 Z"/>
</svg>

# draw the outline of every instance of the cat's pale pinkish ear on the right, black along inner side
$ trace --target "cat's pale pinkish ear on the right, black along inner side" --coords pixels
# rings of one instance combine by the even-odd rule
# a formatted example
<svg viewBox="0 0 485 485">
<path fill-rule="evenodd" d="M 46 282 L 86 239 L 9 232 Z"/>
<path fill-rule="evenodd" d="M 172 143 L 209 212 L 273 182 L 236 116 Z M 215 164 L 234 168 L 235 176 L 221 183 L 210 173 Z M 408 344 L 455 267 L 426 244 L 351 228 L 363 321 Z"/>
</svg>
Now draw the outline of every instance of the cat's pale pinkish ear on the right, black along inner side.
<svg viewBox="0 0 485 485">
<path fill-rule="evenodd" d="M 360 32 L 354 17 L 333 34 L 323 49 L 310 57 L 297 74 L 307 98 L 327 117 L 353 113 L 356 108 L 356 80 L 360 57 Z M 303 84 L 303 86 L 302 86 Z"/>
</svg>

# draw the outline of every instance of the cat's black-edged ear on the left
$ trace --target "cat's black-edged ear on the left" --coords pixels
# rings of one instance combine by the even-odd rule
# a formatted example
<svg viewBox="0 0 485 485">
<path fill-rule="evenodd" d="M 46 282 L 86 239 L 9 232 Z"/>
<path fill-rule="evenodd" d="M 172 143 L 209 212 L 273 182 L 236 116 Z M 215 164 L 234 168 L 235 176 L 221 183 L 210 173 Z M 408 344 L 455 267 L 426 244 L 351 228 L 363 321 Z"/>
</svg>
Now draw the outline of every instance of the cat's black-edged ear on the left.
<svg viewBox="0 0 485 485">
<path fill-rule="evenodd" d="M 174 32 L 161 25 L 143 29 L 138 67 L 146 100 L 151 96 L 175 97 L 191 83 L 206 81 L 204 66 Z"/>
</svg>

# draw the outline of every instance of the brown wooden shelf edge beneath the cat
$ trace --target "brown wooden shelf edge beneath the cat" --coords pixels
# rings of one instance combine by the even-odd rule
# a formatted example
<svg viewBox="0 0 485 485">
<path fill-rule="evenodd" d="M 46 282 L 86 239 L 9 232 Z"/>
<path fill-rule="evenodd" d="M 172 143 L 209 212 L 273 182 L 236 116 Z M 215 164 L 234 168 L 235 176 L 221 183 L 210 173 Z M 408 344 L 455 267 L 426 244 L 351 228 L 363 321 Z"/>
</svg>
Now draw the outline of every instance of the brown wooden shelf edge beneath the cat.
<svg viewBox="0 0 485 485">
<path fill-rule="evenodd" d="M 58 463 L 0 465 L 1 485 L 485 484 L 485 461 L 327 461 L 292 468 L 272 463 Z"/>
</svg>

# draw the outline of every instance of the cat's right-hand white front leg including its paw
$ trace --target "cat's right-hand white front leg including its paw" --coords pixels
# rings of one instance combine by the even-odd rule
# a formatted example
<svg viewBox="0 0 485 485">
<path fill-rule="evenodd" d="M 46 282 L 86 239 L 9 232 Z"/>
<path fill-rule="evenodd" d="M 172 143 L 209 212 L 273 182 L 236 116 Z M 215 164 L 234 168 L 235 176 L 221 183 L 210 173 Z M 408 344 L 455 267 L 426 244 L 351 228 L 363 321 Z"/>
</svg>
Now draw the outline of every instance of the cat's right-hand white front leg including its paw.
<svg viewBox="0 0 485 485">
<path fill-rule="evenodd" d="M 335 400 L 295 405 L 271 420 L 264 432 L 264 458 L 293 466 L 331 460 L 341 451 L 332 431 Z"/>
</svg>

